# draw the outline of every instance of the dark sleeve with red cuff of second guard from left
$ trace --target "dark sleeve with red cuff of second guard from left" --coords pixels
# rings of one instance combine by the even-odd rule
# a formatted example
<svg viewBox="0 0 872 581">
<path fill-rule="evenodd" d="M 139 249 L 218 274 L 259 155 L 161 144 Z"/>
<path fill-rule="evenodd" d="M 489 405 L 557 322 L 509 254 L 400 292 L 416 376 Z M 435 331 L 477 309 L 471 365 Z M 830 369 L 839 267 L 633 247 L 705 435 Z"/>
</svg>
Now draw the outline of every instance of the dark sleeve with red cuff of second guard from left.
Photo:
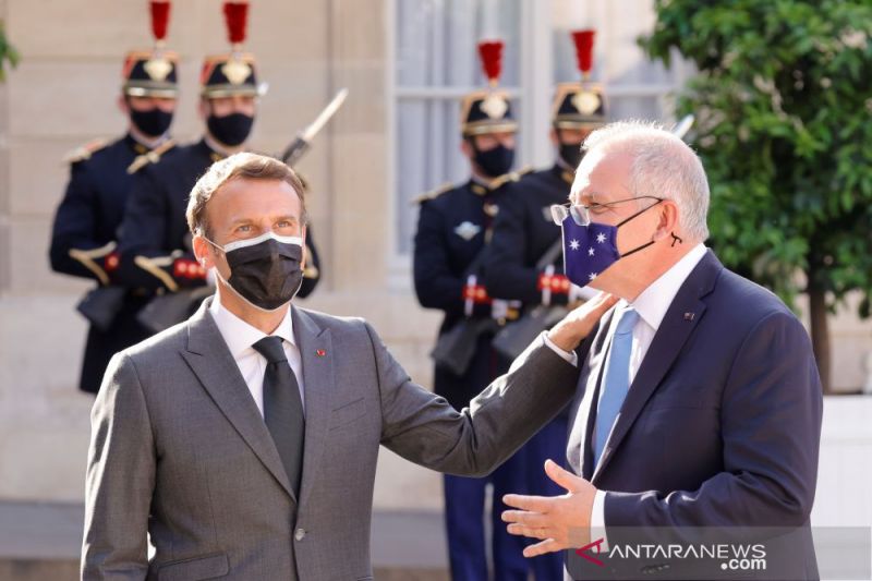
<svg viewBox="0 0 872 581">
<path fill-rule="evenodd" d="M 192 253 L 164 247 L 170 211 L 168 193 L 152 169 L 143 168 L 134 177 L 119 228 L 118 277 L 125 286 L 175 292 L 206 283 Z"/>
</svg>

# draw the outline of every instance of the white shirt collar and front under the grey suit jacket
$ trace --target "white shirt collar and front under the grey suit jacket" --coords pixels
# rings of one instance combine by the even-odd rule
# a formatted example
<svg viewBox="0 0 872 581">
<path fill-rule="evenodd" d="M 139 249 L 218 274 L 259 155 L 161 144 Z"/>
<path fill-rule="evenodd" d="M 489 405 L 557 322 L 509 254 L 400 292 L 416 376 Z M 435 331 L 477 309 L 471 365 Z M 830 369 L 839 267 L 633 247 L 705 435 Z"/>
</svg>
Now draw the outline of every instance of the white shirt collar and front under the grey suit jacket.
<svg viewBox="0 0 872 581">
<path fill-rule="evenodd" d="M 284 349 L 284 354 L 288 356 L 288 363 L 291 365 L 291 371 L 296 376 L 296 385 L 300 386 L 300 400 L 303 402 L 303 412 L 305 413 L 305 390 L 303 389 L 303 361 L 300 356 L 300 349 L 296 347 L 296 341 L 293 337 L 293 319 L 291 318 L 291 308 L 279 324 L 278 328 L 272 332 L 276 337 L 284 339 L 281 343 Z M 267 361 L 264 355 L 258 353 L 252 347 L 254 343 L 267 337 L 267 335 L 257 329 L 237 315 L 225 308 L 221 304 L 221 293 L 218 289 L 215 291 L 215 299 L 209 306 L 209 313 L 215 324 L 218 326 L 218 331 L 223 337 L 233 361 L 237 362 L 242 378 L 245 385 L 249 386 L 249 391 L 261 410 L 261 415 L 264 415 L 264 374 L 266 374 Z"/>
</svg>

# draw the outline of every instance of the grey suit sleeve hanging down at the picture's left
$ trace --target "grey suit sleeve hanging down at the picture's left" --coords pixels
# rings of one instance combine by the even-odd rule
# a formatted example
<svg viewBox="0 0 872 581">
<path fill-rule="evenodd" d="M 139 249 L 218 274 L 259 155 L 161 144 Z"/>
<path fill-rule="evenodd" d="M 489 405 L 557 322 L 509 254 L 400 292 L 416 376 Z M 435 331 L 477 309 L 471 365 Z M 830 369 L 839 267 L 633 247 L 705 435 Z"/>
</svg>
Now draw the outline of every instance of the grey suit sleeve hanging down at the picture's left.
<svg viewBox="0 0 872 581">
<path fill-rule="evenodd" d="M 145 397 L 128 355 L 117 354 L 109 364 L 90 422 L 82 579 L 145 579 L 156 455 Z"/>
</svg>

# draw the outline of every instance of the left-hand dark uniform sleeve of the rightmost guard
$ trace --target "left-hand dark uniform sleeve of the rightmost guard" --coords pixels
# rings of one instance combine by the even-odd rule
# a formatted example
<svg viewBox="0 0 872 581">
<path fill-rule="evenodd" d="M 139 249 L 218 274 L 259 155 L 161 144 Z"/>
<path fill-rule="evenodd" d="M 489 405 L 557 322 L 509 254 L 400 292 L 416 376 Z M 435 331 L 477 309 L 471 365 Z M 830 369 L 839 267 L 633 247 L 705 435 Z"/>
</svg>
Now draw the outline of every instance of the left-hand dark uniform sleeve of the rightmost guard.
<svg viewBox="0 0 872 581">
<path fill-rule="evenodd" d="M 524 264 L 529 225 L 519 195 L 518 189 L 510 189 L 499 206 L 484 263 L 484 283 L 487 293 L 496 299 L 538 304 L 542 302 L 538 271 Z"/>
</svg>

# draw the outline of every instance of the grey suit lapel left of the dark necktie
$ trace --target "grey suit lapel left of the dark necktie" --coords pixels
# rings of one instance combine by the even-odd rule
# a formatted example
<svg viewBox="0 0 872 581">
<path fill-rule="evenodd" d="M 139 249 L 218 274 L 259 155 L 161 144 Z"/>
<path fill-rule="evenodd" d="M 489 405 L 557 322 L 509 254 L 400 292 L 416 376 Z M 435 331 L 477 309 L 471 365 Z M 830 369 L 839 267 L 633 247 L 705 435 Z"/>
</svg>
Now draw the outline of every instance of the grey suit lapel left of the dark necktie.
<svg viewBox="0 0 872 581">
<path fill-rule="evenodd" d="M 237 362 L 208 313 L 213 300 L 204 301 L 196 314 L 191 317 L 187 324 L 187 351 L 182 351 L 182 356 L 255 456 L 291 498 L 296 500 L 272 436 L 239 372 Z"/>
</svg>

